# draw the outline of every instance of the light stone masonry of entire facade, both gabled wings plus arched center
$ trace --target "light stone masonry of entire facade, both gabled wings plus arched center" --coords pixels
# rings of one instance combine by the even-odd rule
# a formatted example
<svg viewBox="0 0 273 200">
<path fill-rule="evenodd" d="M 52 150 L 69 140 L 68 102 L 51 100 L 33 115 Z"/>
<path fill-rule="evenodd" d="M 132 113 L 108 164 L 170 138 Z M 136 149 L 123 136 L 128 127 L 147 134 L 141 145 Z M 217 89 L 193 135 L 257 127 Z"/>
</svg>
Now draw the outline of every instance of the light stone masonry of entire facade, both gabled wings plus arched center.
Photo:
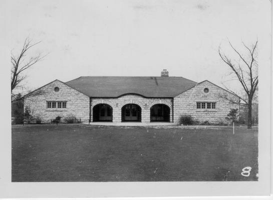
<svg viewBox="0 0 273 200">
<path fill-rule="evenodd" d="M 54 88 L 59 87 L 59 91 Z M 207 93 L 204 88 L 208 88 Z M 43 86 L 41 95 L 25 98 L 24 106 L 30 107 L 34 117 L 40 117 L 42 121 L 50 121 L 56 116 L 62 118 L 75 116 L 82 121 L 93 121 L 93 107 L 100 103 L 109 104 L 113 109 L 113 122 L 121 122 L 122 107 L 126 104 L 137 104 L 141 107 L 141 121 L 150 122 L 150 108 L 155 104 L 165 104 L 170 108 L 170 122 L 177 123 L 181 115 L 193 116 L 199 122 L 210 123 L 227 122 L 225 117 L 230 108 L 237 108 L 236 104 L 224 99 L 228 96 L 238 100 L 230 92 L 217 85 L 203 81 L 189 88 L 173 98 L 148 98 L 138 94 L 124 94 L 117 98 L 92 98 L 72 88 L 66 83 L 55 80 Z M 47 108 L 47 101 L 67 101 L 66 108 Z M 196 102 L 216 102 L 215 109 L 197 109 Z"/>
</svg>

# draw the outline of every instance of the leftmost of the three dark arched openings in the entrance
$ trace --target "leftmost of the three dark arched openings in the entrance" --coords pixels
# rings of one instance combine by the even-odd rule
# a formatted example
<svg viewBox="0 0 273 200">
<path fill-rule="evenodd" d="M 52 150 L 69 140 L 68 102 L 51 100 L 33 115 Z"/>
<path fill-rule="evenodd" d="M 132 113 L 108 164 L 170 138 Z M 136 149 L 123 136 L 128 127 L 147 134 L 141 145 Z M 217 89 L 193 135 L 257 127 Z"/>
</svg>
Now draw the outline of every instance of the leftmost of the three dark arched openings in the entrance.
<svg viewBox="0 0 273 200">
<path fill-rule="evenodd" d="M 113 108 L 105 103 L 93 107 L 93 121 L 113 121 Z"/>
</svg>

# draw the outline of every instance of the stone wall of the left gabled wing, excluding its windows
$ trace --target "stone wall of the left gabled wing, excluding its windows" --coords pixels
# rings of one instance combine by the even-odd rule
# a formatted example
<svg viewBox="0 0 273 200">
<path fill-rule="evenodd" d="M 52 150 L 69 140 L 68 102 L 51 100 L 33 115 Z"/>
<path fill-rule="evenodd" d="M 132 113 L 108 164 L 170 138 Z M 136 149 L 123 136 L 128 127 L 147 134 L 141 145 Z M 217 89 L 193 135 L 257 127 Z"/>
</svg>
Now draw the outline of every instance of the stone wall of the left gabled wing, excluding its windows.
<svg viewBox="0 0 273 200">
<path fill-rule="evenodd" d="M 59 87 L 59 91 L 54 88 Z M 55 80 L 41 88 L 43 94 L 26 98 L 24 110 L 28 106 L 34 117 L 42 121 L 54 119 L 56 116 L 76 116 L 82 121 L 89 120 L 89 96 L 77 91 L 67 84 Z M 47 101 L 67 101 L 66 108 L 47 108 Z"/>
</svg>

